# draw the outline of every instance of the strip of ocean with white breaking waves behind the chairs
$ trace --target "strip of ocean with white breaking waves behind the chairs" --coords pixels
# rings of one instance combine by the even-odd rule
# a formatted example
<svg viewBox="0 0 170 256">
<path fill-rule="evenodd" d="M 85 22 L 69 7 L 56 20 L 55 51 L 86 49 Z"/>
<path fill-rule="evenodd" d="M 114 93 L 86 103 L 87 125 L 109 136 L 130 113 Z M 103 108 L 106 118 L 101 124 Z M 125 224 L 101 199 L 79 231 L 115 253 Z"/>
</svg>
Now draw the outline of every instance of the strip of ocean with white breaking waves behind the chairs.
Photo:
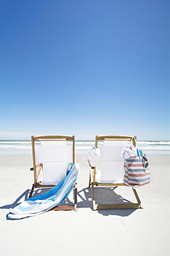
<svg viewBox="0 0 170 256">
<path fill-rule="evenodd" d="M 139 149 L 142 149 L 146 155 L 170 154 L 169 140 L 139 140 L 137 143 Z M 76 156 L 87 156 L 93 146 L 94 140 L 76 140 Z M 0 140 L 0 155 L 32 155 L 31 140 Z"/>
</svg>

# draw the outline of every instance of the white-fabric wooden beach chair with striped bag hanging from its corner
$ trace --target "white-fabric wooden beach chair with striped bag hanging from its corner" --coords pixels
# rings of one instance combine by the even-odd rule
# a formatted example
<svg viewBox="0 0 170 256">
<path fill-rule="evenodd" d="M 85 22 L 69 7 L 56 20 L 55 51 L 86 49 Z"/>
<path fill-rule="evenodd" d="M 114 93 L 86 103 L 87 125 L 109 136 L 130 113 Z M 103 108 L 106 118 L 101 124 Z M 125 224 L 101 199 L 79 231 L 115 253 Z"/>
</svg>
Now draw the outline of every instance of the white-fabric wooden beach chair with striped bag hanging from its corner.
<svg viewBox="0 0 170 256">
<path fill-rule="evenodd" d="M 100 148 L 100 161 L 93 167 L 89 162 L 89 187 L 92 188 L 93 210 L 101 209 L 125 209 L 125 208 L 142 208 L 140 199 L 135 188 L 132 188 L 136 203 L 120 197 L 120 203 L 96 203 L 94 190 L 97 187 L 118 187 L 124 186 L 124 162 L 120 158 L 122 149 L 132 143 L 136 147 L 135 136 L 96 136 L 95 147 Z M 98 146 L 99 145 L 99 146 Z M 100 165 L 100 167 L 98 167 Z M 95 189 L 94 189 L 95 188 Z M 129 187 L 127 187 L 127 190 Z M 100 190 L 101 191 L 101 190 Z M 103 190 L 104 191 L 104 190 Z M 101 194 L 100 192 L 99 194 Z M 110 196 L 110 194 L 109 194 Z M 99 196 L 100 197 L 100 196 Z M 104 196 L 105 198 L 105 196 Z M 105 201 L 105 200 L 104 200 Z M 111 201 L 111 200 L 110 200 Z"/>
</svg>

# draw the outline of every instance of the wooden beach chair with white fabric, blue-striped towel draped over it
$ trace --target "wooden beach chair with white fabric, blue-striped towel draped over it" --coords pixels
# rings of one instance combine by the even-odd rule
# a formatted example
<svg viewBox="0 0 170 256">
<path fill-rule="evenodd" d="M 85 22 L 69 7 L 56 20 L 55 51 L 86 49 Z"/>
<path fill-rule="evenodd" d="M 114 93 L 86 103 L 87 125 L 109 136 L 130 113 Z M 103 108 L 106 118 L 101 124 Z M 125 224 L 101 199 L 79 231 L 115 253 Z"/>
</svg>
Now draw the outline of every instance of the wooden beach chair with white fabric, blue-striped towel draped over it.
<svg viewBox="0 0 170 256">
<path fill-rule="evenodd" d="M 32 161 L 36 188 L 53 188 L 65 179 L 69 163 L 75 163 L 74 136 L 32 136 Z M 59 205 L 53 210 L 76 210 L 77 188 L 74 185 L 74 205 Z"/>
</svg>

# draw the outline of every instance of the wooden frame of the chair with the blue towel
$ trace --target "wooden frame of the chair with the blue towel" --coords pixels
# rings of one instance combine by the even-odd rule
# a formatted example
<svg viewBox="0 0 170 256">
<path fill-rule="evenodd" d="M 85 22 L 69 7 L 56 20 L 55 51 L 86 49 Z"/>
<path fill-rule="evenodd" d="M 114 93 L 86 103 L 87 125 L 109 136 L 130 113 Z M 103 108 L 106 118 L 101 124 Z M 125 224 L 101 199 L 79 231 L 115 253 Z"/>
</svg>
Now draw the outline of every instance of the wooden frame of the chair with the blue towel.
<svg viewBox="0 0 170 256">
<path fill-rule="evenodd" d="M 33 167 L 30 170 L 34 171 L 34 183 L 32 184 L 32 189 L 30 191 L 30 197 L 32 197 L 32 193 L 35 188 L 53 188 L 55 184 L 52 185 L 41 185 L 38 181 L 39 174 L 41 173 L 43 163 L 36 163 L 35 156 L 35 142 L 36 141 L 72 141 L 72 163 L 75 163 L 75 138 L 74 136 L 32 136 L 32 161 Z M 37 170 L 38 168 L 38 170 Z M 51 210 L 76 210 L 77 208 L 77 183 L 74 185 L 74 205 L 59 205 Z"/>
</svg>

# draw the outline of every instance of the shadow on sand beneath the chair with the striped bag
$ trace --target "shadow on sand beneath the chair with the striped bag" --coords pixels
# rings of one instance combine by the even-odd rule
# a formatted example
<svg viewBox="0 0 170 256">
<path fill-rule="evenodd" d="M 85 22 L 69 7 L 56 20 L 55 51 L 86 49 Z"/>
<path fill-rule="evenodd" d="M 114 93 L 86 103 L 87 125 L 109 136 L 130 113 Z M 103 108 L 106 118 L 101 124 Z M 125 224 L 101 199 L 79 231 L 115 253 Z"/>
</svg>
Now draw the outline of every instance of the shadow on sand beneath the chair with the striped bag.
<svg viewBox="0 0 170 256">
<path fill-rule="evenodd" d="M 116 194 L 114 188 L 96 188 L 94 190 L 96 196 L 96 203 L 131 203 L 127 199 L 123 198 L 119 194 Z M 78 208 L 91 208 L 93 210 L 92 205 L 92 192 L 91 188 L 83 188 L 83 190 L 78 191 L 78 197 L 81 201 L 78 201 Z M 100 199 L 100 201 L 98 201 Z M 96 210 L 99 214 L 103 214 L 105 216 L 108 215 L 118 215 L 121 217 L 127 217 L 132 214 L 137 209 L 104 209 L 104 210 Z"/>
</svg>

